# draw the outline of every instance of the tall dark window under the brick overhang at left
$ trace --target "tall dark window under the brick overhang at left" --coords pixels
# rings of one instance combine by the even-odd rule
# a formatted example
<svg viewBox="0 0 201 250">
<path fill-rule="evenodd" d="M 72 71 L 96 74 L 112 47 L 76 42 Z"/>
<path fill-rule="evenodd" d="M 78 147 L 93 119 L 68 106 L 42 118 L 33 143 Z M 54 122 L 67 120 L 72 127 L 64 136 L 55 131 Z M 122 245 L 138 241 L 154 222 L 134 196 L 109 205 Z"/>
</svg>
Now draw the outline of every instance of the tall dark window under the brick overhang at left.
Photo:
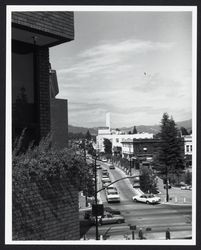
<svg viewBox="0 0 201 250">
<path fill-rule="evenodd" d="M 12 138 L 13 141 L 26 128 L 26 141 L 39 136 L 34 84 L 34 51 L 24 43 L 12 45 Z"/>
</svg>

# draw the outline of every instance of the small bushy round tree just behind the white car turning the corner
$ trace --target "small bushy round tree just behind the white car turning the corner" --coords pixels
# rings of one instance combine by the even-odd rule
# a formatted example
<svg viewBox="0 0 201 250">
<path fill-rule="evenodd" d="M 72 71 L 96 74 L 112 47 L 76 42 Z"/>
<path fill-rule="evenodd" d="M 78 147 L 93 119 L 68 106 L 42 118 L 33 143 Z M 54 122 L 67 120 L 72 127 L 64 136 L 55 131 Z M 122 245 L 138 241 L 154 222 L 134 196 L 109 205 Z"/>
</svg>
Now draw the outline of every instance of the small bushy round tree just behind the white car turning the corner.
<svg viewBox="0 0 201 250">
<path fill-rule="evenodd" d="M 157 190 L 156 175 L 149 167 L 142 166 L 140 169 L 140 188 L 145 193 L 155 193 Z"/>
</svg>

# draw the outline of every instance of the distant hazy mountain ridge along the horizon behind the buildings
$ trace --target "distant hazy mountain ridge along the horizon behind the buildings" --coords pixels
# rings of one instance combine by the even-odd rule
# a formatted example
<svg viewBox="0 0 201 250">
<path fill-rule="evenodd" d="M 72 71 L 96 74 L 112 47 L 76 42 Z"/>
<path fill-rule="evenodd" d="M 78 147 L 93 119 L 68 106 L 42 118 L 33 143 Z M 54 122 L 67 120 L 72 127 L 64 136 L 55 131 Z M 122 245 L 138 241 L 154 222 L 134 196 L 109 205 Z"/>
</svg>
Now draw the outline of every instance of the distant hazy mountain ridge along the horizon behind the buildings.
<svg viewBox="0 0 201 250">
<path fill-rule="evenodd" d="M 192 119 L 176 122 L 176 125 L 178 128 L 184 127 L 189 132 L 190 130 L 192 130 Z M 121 131 L 128 133 L 129 131 L 131 131 L 131 132 L 133 131 L 133 127 L 122 127 L 119 129 Z M 144 133 L 157 134 L 160 132 L 160 124 L 158 124 L 158 125 L 139 125 L 139 126 L 136 126 L 136 128 L 137 128 L 137 131 L 139 133 L 144 132 Z M 70 133 L 73 133 L 73 134 L 78 134 L 78 133 L 86 134 L 87 131 L 89 130 L 91 135 L 97 135 L 98 129 L 99 129 L 99 127 L 85 128 L 85 127 L 77 127 L 77 126 L 68 125 L 68 131 Z"/>
</svg>

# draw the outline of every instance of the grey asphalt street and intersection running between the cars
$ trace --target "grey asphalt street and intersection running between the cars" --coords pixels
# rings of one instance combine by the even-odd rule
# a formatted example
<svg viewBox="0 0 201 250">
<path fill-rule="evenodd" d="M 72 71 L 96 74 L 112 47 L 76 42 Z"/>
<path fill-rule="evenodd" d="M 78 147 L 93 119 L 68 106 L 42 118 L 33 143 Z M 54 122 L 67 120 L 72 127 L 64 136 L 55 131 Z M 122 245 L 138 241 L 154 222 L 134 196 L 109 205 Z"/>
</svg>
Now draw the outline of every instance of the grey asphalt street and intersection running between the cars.
<svg viewBox="0 0 201 250">
<path fill-rule="evenodd" d="M 102 164 L 103 167 L 107 167 L 107 164 Z M 121 170 L 108 170 L 110 172 L 111 180 L 120 179 L 123 177 Z M 101 188 L 101 170 L 98 170 L 99 181 L 98 188 Z M 135 203 L 132 201 L 135 191 L 130 185 L 128 179 L 121 180 L 115 183 L 119 193 L 121 202 L 109 204 L 111 207 L 121 211 L 121 214 L 125 217 L 125 223 L 122 224 L 111 224 L 99 226 L 99 234 L 104 235 L 106 232 L 110 239 L 122 239 L 124 235 L 130 235 L 130 226 L 135 225 L 137 227 L 136 235 L 139 228 L 142 228 L 144 236 L 147 239 L 157 239 L 158 234 L 163 234 L 165 237 L 165 231 L 170 228 L 171 235 L 174 233 L 181 232 L 181 235 L 191 235 L 191 213 L 192 207 L 189 205 L 175 206 L 169 204 L 156 204 L 147 205 L 143 203 Z M 101 191 L 101 198 L 104 205 L 108 206 L 105 199 L 104 191 Z M 147 228 L 151 228 L 151 231 L 146 231 Z M 87 237 L 94 239 L 95 237 L 95 226 L 92 226 L 88 232 Z"/>
</svg>

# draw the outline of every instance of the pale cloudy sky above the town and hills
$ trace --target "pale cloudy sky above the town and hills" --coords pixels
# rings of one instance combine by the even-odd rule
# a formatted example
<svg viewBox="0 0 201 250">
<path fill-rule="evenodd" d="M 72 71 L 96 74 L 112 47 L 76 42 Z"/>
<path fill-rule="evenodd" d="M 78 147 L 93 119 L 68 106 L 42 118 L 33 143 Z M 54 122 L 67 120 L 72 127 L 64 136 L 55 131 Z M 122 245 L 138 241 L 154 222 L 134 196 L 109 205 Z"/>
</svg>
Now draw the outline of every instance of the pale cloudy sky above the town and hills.
<svg viewBox="0 0 201 250">
<path fill-rule="evenodd" d="M 69 124 L 159 124 L 192 118 L 191 12 L 74 12 L 75 39 L 50 49 Z"/>
</svg>

